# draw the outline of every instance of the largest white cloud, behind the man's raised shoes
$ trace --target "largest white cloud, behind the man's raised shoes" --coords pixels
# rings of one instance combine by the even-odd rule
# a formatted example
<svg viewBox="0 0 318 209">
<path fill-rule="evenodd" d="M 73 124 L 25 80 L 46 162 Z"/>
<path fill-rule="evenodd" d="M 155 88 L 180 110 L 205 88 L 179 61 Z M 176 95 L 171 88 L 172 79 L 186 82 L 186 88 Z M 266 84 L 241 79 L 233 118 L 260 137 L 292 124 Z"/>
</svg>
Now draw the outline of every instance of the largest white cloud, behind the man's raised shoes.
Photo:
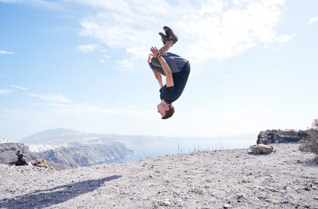
<svg viewBox="0 0 318 209">
<path fill-rule="evenodd" d="M 160 43 L 158 32 L 169 22 L 180 42 L 173 50 L 182 51 L 192 63 L 226 59 L 257 43 L 274 42 L 275 26 L 285 10 L 285 0 L 237 0 L 232 5 L 222 0 L 200 1 L 200 5 L 166 0 L 118 0 L 116 5 L 101 0 L 74 2 L 97 10 L 80 21 L 81 35 L 142 58 L 147 57 L 150 46 Z"/>
</svg>

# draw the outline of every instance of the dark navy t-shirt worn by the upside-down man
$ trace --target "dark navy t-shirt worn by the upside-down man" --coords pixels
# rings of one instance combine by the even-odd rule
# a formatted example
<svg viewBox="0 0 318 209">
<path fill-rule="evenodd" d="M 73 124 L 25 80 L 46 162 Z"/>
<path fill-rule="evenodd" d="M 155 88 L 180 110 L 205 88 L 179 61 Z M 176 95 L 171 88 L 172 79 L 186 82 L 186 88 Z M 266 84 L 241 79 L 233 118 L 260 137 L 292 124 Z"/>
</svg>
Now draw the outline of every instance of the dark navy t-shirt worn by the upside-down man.
<svg viewBox="0 0 318 209">
<path fill-rule="evenodd" d="M 173 87 L 164 85 L 160 90 L 160 100 L 164 100 L 167 104 L 176 101 L 182 94 L 185 85 L 187 84 L 190 74 L 190 63 L 187 62 L 179 73 L 172 73 Z"/>
</svg>

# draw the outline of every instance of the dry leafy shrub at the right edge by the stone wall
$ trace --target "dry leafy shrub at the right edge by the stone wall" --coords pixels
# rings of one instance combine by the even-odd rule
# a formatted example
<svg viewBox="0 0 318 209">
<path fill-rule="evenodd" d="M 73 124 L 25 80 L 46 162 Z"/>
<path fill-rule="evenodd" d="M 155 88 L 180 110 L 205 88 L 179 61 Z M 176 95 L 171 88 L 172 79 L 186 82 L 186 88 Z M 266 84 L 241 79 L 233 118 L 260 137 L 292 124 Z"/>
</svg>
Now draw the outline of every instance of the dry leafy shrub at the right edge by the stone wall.
<svg viewBox="0 0 318 209">
<path fill-rule="evenodd" d="M 301 143 L 305 150 L 316 154 L 314 161 L 318 161 L 318 119 L 312 123 L 312 128 L 308 130 L 308 138 L 302 139 Z"/>
</svg>

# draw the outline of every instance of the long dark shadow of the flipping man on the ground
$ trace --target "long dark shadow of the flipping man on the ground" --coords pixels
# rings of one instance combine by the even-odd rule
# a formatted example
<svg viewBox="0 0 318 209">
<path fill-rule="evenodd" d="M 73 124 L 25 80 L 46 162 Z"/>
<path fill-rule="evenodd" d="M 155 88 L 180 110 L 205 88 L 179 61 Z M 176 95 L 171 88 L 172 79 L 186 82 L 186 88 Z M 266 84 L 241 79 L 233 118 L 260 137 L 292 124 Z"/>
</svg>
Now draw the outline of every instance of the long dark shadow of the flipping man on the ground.
<svg viewBox="0 0 318 209">
<path fill-rule="evenodd" d="M 121 177 L 122 176 L 115 175 L 102 179 L 87 180 L 58 186 L 52 189 L 37 190 L 32 194 L 21 195 L 14 199 L 2 199 L 0 200 L 0 209 L 17 207 L 41 209 L 49 207 L 94 191 L 101 187 L 104 182 L 119 179 Z"/>
</svg>

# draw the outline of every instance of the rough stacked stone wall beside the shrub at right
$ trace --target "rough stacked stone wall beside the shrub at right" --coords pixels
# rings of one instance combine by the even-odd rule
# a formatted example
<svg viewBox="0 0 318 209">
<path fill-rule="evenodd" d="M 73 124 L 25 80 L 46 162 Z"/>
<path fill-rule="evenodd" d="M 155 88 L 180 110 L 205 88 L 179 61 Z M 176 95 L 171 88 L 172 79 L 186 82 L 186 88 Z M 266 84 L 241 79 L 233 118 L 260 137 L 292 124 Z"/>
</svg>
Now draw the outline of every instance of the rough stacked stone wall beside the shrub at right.
<svg viewBox="0 0 318 209">
<path fill-rule="evenodd" d="M 308 137 L 304 130 L 266 130 L 259 132 L 257 136 L 257 144 L 270 144 L 270 143 L 289 143 L 299 142 L 300 139 Z"/>
</svg>

